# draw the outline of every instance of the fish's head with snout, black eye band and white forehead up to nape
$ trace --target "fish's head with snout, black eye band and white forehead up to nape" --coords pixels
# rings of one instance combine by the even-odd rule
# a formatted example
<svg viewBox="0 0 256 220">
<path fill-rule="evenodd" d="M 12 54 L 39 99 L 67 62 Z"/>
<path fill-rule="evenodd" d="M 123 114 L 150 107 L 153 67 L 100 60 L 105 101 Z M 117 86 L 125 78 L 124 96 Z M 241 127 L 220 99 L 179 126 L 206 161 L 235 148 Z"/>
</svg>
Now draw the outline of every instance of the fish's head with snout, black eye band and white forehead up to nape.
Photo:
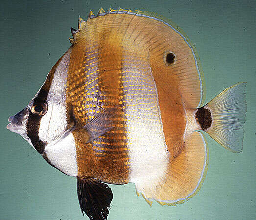
<svg viewBox="0 0 256 220">
<path fill-rule="evenodd" d="M 69 54 L 67 51 L 52 67 L 29 104 L 8 119 L 7 129 L 20 134 L 40 154 L 74 127 L 72 110 L 66 102 Z"/>
</svg>

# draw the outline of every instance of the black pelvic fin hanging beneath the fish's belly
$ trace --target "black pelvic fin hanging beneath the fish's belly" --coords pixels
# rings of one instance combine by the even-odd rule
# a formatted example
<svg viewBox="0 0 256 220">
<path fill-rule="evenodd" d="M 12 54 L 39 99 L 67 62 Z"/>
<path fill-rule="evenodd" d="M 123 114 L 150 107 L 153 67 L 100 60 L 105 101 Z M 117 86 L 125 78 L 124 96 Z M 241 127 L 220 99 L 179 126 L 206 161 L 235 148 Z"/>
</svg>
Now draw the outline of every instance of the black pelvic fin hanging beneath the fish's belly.
<svg viewBox="0 0 256 220">
<path fill-rule="evenodd" d="M 91 220 L 106 220 L 113 198 L 107 184 L 92 178 L 77 178 L 77 195 L 81 211 Z"/>
</svg>

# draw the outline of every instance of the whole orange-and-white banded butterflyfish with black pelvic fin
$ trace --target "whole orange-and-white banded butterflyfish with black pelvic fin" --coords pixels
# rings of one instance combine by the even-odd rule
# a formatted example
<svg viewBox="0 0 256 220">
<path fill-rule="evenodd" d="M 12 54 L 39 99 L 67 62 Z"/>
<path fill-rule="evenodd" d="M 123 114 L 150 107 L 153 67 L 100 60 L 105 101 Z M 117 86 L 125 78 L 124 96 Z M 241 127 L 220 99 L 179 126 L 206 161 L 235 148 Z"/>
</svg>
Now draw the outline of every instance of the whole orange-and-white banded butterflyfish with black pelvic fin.
<svg viewBox="0 0 256 220">
<path fill-rule="evenodd" d="M 151 206 L 177 205 L 201 188 L 205 134 L 241 153 L 246 83 L 204 104 L 198 54 L 183 31 L 152 12 L 90 11 L 71 46 L 7 129 L 77 179 L 81 212 L 106 220 L 108 184 L 134 183 Z"/>
</svg>

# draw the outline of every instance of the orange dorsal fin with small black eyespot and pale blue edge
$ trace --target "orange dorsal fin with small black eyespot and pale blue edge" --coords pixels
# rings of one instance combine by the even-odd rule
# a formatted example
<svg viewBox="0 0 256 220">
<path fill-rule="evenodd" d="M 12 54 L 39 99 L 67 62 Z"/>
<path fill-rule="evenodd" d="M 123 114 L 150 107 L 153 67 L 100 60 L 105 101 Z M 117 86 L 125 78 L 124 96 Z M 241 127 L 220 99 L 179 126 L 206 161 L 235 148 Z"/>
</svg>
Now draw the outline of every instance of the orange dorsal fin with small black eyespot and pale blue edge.
<svg viewBox="0 0 256 220">
<path fill-rule="evenodd" d="M 160 91 L 160 98 L 178 90 L 188 108 L 202 106 L 204 80 L 197 53 L 173 22 L 151 12 L 111 9 L 89 17 L 77 35 L 77 42 L 87 39 L 98 45 L 102 39 L 117 36 L 124 48 L 147 53 L 157 87 L 163 93 Z M 173 84 L 177 87 L 170 88 Z"/>
</svg>

